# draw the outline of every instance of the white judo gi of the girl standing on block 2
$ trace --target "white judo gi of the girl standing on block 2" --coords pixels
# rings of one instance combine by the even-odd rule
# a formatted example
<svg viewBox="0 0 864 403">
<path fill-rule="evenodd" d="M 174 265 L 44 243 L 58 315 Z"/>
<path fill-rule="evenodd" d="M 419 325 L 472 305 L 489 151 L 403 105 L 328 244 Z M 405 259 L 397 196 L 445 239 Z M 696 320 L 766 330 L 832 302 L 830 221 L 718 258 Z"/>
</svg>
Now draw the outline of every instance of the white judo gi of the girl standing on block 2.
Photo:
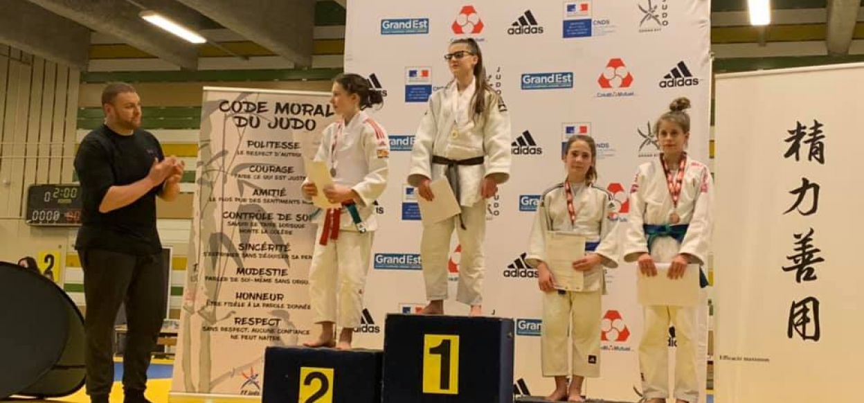
<svg viewBox="0 0 864 403">
<path fill-rule="evenodd" d="M 314 160 L 327 162 L 336 171 L 334 182 L 360 196 L 356 207 L 366 231 L 359 232 L 346 207 L 338 212 L 321 211 L 315 216 L 318 230 L 309 269 L 309 297 L 315 323 L 334 322 L 345 328 L 360 325 L 373 233 L 378 228 L 373 203 L 387 185 L 389 155 L 387 132 L 363 111 L 354 115 L 348 125 L 340 120 L 324 129 Z M 328 214 L 333 214 L 333 218 L 339 216 L 338 228 L 327 228 Z M 335 229 L 338 229 L 335 239 L 332 232 L 324 233 Z"/>
</svg>

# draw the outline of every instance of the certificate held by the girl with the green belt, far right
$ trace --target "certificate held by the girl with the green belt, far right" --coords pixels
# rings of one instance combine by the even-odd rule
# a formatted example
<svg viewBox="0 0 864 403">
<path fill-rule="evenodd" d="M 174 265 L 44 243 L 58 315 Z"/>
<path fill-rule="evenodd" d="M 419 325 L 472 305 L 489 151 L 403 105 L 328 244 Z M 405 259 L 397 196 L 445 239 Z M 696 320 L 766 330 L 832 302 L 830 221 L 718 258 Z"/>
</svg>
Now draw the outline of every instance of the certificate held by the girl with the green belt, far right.
<svg viewBox="0 0 864 403">
<path fill-rule="evenodd" d="M 638 303 L 641 305 L 694 306 L 699 301 L 699 265 L 687 265 L 684 277 L 669 278 L 669 263 L 655 263 L 657 275 L 638 271 Z"/>
</svg>

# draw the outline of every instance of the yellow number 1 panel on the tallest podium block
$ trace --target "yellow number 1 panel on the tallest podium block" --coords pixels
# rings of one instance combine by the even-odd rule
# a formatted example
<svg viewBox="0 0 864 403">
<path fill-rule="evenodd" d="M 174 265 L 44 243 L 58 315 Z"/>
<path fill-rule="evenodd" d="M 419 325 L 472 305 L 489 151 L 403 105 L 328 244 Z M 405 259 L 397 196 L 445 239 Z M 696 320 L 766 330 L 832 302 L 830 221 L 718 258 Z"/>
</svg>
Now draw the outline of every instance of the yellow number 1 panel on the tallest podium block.
<svg viewBox="0 0 864 403">
<path fill-rule="evenodd" d="M 424 335 L 423 393 L 459 394 L 459 336 Z"/>
</svg>

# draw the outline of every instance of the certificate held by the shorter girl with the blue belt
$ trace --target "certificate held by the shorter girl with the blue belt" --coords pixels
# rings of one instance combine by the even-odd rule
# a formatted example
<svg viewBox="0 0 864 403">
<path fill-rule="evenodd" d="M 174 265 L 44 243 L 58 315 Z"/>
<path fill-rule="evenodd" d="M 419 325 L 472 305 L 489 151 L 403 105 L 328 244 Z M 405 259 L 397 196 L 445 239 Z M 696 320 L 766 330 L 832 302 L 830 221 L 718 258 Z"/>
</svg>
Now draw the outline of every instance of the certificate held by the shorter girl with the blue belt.
<svg viewBox="0 0 864 403">
<path fill-rule="evenodd" d="M 573 262 L 585 256 L 585 237 L 575 233 L 548 231 L 546 233 L 546 265 L 552 272 L 555 288 L 564 291 L 582 291 L 585 273 L 573 269 Z"/>
</svg>

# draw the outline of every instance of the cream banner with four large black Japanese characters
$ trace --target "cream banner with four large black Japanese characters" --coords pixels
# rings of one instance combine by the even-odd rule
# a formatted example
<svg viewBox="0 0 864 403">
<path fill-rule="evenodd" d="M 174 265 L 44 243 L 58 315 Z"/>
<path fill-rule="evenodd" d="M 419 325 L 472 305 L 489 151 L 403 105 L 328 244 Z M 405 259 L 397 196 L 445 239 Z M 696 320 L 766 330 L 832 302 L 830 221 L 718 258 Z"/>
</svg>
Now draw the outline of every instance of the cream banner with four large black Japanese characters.
<svg viewBox="0 0 864 403">
<path fill-rule="evenodd" d="M 864 64 L 716 91 L 715 401 L 860 400 Z"/>
</svg>

